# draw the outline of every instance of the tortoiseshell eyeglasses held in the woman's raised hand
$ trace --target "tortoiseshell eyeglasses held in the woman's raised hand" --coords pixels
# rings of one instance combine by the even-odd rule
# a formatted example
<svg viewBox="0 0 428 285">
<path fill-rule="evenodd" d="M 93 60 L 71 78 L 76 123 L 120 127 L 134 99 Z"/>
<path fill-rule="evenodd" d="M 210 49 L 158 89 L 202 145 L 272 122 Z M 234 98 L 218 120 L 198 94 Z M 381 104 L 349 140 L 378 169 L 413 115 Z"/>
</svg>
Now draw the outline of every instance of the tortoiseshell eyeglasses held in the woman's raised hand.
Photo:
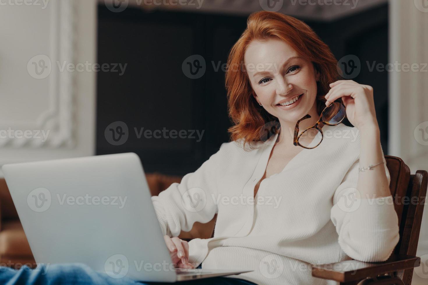
<svg viewBox="0 0 428 285">
<path fill-rule="evenodd" d="M 322 129 L 319 127 L 321 123 L 324 123 L 329 126 L 336 126 L 346 117 L 346 108 L 343 103 L 332 102 L 330 105 L 326 106 L 322 110 L 320 118 L 315 125 L 311 126 L 308 129 L 305 129 L 299 135 L 299 123 L 302 120 L 311 118 L 311 115 L 307 114 L 303 118 L 297 121 L 296 126 L 294 127 L 294 142 L 295 146 L 299 145 L 307 149 L 312 149 L 318 147 L 321 144 L 322 139 L 324 138 Z M 309 147 L 312 145 L 311 147 Z"/>
</svg>

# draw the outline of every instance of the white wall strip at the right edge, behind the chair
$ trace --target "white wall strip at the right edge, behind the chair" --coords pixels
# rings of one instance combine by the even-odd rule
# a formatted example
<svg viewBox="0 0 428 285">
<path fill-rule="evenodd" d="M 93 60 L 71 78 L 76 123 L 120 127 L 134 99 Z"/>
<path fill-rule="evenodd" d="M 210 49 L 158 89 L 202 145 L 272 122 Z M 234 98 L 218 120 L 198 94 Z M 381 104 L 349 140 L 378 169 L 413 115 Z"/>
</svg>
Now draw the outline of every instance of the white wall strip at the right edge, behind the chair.
<svg viewBox="0 0 428 285">
<path fill-rule="evenodd" d="M 424 0 L 390 0 L 389 62 L 416 64 L 414 71 L 389 72 L 389 151 L 410 173 L 428 170 L 428 6 Z M 426 8 L 425 8 L 426 7 Z M 419 69 L 416 69 L 419 66 Z M 422 71 L 424 70 L 424 71 Z M 428 200 L 425 201 L 412 284 L 428 283 Z"/>
</svg>

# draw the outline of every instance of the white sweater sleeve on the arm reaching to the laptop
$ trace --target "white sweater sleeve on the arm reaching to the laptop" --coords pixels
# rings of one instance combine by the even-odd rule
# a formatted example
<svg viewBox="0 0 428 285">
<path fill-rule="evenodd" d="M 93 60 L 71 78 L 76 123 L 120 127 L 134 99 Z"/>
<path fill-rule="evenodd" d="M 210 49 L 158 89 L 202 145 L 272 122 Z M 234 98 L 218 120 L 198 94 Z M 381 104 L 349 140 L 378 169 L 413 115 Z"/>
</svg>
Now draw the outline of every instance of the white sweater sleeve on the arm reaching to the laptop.
<svg viewBox="0 0 428 285">
<path fill-rule="evenodd" d="M 223 147 L 223 145 L 222 145 Z M 163 235 L 176 237 L 188 232 L 193 223 L 208 223 L 217 213 L 217 160 L 220 150 L 211 155 L 195 172 L 188 173 L 180 183 L 172 183 L 152 203 Z"/>
</svg>

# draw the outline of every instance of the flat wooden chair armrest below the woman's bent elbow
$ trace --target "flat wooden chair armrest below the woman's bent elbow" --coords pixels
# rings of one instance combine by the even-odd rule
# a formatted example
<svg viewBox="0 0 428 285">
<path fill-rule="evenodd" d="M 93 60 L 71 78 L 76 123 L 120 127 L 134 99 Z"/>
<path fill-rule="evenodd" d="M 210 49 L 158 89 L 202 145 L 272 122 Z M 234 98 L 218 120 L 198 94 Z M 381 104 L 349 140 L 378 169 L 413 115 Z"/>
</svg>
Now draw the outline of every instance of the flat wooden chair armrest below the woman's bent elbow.
<svg viewBox="0 0 428 285">
<path fill-rule="evenodd" d="M 388 272 L 418 267 L 420 264 L 420 257 L 392 254 L 389 259 L 382 262 L 345 260 L 336 263 L 312 265 L 312 276 L 339 282 L 350 282 Z"/>
</svg>

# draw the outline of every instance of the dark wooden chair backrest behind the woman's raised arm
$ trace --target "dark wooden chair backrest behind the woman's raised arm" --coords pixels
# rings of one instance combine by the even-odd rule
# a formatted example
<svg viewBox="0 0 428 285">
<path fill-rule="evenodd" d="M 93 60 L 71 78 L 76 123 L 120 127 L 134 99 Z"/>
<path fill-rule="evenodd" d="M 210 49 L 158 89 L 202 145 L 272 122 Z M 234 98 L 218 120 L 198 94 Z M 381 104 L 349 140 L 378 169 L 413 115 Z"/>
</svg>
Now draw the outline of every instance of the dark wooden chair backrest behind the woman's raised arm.
<svg viewBox="0 0 428 285">
<path fill-rule="evenodd" d="M 415 256 L 427 191 L 428 172 L 417 170 L 415 174 L 410 174 L 409 167 L 396 156 L 385 156 L 385 160 L 391 176 L 389 189 L 394 198 L 395 212 L 397 212 L 400 226 L 400 240 L 394 253 Z M 410 284 L 413 268 L 396 274 L 404 284 Z"/>
</svg>

